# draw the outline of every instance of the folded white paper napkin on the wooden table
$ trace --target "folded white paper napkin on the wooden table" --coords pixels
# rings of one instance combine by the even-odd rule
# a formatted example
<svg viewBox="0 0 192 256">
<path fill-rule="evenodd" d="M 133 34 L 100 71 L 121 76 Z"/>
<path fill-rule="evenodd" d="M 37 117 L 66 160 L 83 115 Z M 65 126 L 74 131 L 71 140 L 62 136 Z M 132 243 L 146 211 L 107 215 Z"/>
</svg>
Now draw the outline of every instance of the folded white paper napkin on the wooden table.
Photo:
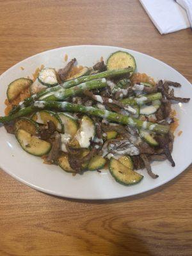
<svg viewBox="0 0 192 256">
<path fill-rule="evenodd" d="M 140 0 L 140 3 L 161 34 L 190 27 L 186 10 L 174 0 Z"/>
</svg>

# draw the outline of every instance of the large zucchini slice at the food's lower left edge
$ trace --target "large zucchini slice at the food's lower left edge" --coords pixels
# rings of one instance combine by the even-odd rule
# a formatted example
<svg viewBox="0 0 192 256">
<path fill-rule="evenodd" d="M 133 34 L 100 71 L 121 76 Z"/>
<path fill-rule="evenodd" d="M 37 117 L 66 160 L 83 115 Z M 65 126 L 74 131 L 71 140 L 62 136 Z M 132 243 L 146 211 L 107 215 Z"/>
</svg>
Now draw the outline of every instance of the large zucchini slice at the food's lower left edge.
<svg viewBox="0 0 192 256">
<path fill-rule="evenodd" d="M 44 156 L 51 150 L 51 143 L 40 140 L 22 129 L 17 130 L 15 136 L 20 146 L 33 156 Z"/>
</svg>

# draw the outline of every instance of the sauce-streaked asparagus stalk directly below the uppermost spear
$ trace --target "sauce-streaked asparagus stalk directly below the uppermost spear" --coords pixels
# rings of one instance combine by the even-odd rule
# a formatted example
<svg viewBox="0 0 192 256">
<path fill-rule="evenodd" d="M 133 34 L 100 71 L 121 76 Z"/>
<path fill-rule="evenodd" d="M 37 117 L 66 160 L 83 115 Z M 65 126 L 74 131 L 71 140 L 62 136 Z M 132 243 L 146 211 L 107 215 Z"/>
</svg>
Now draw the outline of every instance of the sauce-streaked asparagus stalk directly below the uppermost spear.
<svg viewBox="0 0 192 256">
<path fill-rule="evenodd" d="M 106 79 L 97 79 L 97 80 L 92 80 L 88 81 L 85 83 L 77 84 L 76 86 L 72 88 L 67 88 L 63 89 L 61 88 L 60 90 L 56 92 L 49 92 L 45 94 L 44 96 L 40 97 L 40 100 L 46 100 L 46 101 L 61 101 L 65 100 L 70 96 L 77 95 L 79 93 L 84 92 L 84 90 L 93 90 L 96 88 L 103 88 L 107 85 Z"/>
</svg>

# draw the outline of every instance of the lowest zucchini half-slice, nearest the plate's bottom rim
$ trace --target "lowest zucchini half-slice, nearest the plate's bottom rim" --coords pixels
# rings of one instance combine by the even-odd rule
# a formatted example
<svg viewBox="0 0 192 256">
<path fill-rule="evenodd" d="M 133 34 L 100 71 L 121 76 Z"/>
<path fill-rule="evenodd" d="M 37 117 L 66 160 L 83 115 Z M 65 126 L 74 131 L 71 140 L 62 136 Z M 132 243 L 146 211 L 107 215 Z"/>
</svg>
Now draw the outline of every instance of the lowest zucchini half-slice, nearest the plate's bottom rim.
<svg viewBox="0 0 192 256">
<path fill-rule="evenodd" d="M 143 175 L 127 168 L 113 157 L 110 159 L 109 172 L 117 182 L 125 186 L 137 184 L 143 179 Z"/>
</svg>

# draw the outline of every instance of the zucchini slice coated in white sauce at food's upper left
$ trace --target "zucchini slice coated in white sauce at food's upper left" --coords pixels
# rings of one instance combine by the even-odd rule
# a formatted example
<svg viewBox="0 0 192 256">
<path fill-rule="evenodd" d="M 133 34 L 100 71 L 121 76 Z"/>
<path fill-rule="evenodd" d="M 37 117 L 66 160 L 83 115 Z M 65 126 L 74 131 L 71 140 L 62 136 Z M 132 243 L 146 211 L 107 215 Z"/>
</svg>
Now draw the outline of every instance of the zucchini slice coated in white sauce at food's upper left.
<svg viewBox="0 0 192 256">
<path fill-rule="evenodd" d="M 38 74 L 38 81 L 47 87 L 58 84 L 56 70 L 54 68 L 43 68 Z"/>
</svg>

